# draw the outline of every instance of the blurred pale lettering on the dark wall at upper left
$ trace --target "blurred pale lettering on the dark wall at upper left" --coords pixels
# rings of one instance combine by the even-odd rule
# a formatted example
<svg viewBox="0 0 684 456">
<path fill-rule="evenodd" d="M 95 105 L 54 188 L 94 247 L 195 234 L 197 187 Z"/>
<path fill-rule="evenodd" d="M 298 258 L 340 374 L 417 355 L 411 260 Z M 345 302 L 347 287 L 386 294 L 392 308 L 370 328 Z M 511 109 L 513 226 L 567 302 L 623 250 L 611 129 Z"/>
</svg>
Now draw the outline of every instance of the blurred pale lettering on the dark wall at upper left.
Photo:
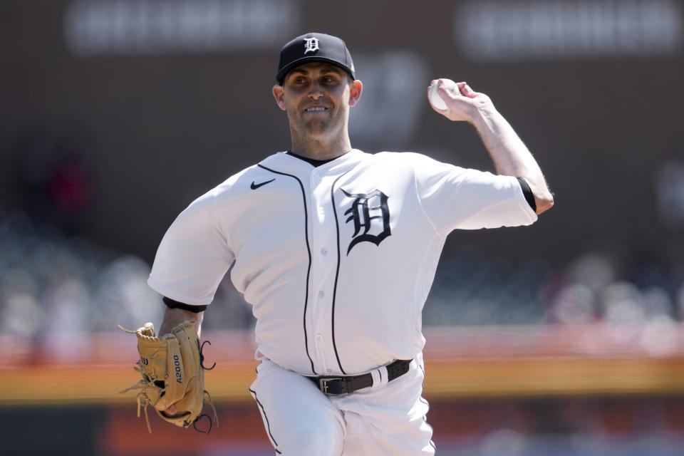
<svg viewBox="0 0 684 456">
<path fill-rule="evenodd" d="M 80 56 L 199 53 L 279 46 L 299 16 L 290 0 L 77 0 L 63 25 Z"/>
</svg>

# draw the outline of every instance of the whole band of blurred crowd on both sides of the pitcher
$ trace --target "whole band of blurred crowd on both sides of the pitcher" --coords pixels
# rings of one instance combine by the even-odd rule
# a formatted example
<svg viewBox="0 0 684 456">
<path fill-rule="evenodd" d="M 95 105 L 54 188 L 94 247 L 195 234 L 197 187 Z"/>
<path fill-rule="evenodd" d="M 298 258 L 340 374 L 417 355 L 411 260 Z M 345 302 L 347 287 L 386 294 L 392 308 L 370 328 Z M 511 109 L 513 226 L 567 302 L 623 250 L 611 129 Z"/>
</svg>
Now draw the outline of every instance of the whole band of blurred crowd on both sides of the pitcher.
<svg viewBox="0 0 684 456">
<path fill-rule="evenodd" d="M 130 254 L 0 212 L 0 336 L 58 337 L 159 322 L 164 305 L 147 286 L 150 264 Z M 623 265 L 622 265 L 623 266 Z M 684 316 L 684 262 L 625 273 L 600 254 L 562 271 L 542 260 L 512 264 L 472 246 L 445 254 L 423 311 L 423 326 L 544 323 L 673 327 Z M 252 310 L 228 274 L 204 328 L 251 328 Z"/>
</svg>

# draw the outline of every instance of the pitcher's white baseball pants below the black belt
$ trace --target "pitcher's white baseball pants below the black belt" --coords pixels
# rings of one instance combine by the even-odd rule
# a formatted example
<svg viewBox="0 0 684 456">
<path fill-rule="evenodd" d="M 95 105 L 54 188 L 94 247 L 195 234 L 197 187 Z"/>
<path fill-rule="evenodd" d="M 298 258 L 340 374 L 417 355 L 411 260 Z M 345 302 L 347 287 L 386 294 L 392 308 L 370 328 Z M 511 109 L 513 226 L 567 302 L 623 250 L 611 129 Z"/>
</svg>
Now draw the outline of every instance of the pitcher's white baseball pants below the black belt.
<svg viewBox="0 0 684 456">
<path fill-rule="evenodd" d="M 389 383 L 326 396 L 306 377 L 263 358 L 249 391 L 266 434 L 285 456 L 434 455 L 425 421 L 423 356 Z M 386 375 L 385 375 L 386 378 Z"/>
</svg>

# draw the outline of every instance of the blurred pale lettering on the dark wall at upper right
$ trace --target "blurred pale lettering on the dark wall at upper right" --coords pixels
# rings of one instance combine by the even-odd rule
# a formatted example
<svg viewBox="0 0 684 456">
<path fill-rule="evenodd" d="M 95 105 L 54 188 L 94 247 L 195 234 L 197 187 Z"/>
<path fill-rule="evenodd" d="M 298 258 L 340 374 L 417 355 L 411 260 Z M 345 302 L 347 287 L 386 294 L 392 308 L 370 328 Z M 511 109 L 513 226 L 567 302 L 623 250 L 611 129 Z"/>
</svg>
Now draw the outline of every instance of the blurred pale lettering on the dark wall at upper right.
<svg viewBox="0 0 684 456">
<path fill-rule="evenodd" d="M 454 39 L 473 61 L 670 56 L 682 49 L 672 0 L 466 1 Z"/>
</svg>

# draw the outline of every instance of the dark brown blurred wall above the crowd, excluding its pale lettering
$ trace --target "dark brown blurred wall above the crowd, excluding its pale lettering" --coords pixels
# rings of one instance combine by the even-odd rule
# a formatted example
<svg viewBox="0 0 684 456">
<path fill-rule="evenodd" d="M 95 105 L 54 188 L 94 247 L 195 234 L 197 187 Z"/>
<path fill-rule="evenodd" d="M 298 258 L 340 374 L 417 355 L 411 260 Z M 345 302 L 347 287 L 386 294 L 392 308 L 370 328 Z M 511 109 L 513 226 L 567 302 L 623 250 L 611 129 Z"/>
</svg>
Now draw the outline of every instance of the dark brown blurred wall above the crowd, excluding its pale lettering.
<svg viewBox="0 0 684 456">
<path fill-rule="evenodd" d="M 0 208 L 6 211 L 37 212 L 43 222 L 57 220 L 150 261 L 167 226 L 192 199 L 289 146 L 286 120 L 270 93 L 277 54 L 280 43 L 314 30 L 346 40 L 362 81 L 377 80 L 387 62 L 389 76 L 407 68 L 392 60 L 394 51 L 419 63 L 406 70 L 422 78 L 415 87 L 366 86 L 365 115 L 385 126 L 375 135 L 352 131 L 355 147 L 415 150 L 491 169 L 475 131 L 450 125 L 422 95 L 431 78 L 445 76 L 491 95 L 536 155 L 556 192 L 556 208 L 529 229 L 452 234 L 447 250 L 473 243 L 508 259 L 543 257 L 554 264 L 597 249 L 626 261 L 674 261 L 684 253 L 684 227 L 663 222 L 656 193 L 663 162 L 683 156 L 684 58 L 676 39 L 660 54 L 483 61 L 455 38 L 453 24 L 467 28 L 459 22 L 467 17 L 466 2 L 434 1 L 425 8 L 409 0 L 351 0 L 333 9 L 293 0 L 296 20 L 279 24 L 269 43 L 200 53 L 78 55 L 65 38 L 68 4 L 0 4 Z M 680 14 L 680 3 L 664 4 Z M 383 117 L 388 110 L 373 110 L 378 103 L 389 103 L 390 112 L 411 111 L 410 133 Z M 55 211 L 26 183 L 21 162 L 38 160 L 26 158 L 38 143 L 85 155 L 93 191 L 76 214 Z"/>
</svg>

